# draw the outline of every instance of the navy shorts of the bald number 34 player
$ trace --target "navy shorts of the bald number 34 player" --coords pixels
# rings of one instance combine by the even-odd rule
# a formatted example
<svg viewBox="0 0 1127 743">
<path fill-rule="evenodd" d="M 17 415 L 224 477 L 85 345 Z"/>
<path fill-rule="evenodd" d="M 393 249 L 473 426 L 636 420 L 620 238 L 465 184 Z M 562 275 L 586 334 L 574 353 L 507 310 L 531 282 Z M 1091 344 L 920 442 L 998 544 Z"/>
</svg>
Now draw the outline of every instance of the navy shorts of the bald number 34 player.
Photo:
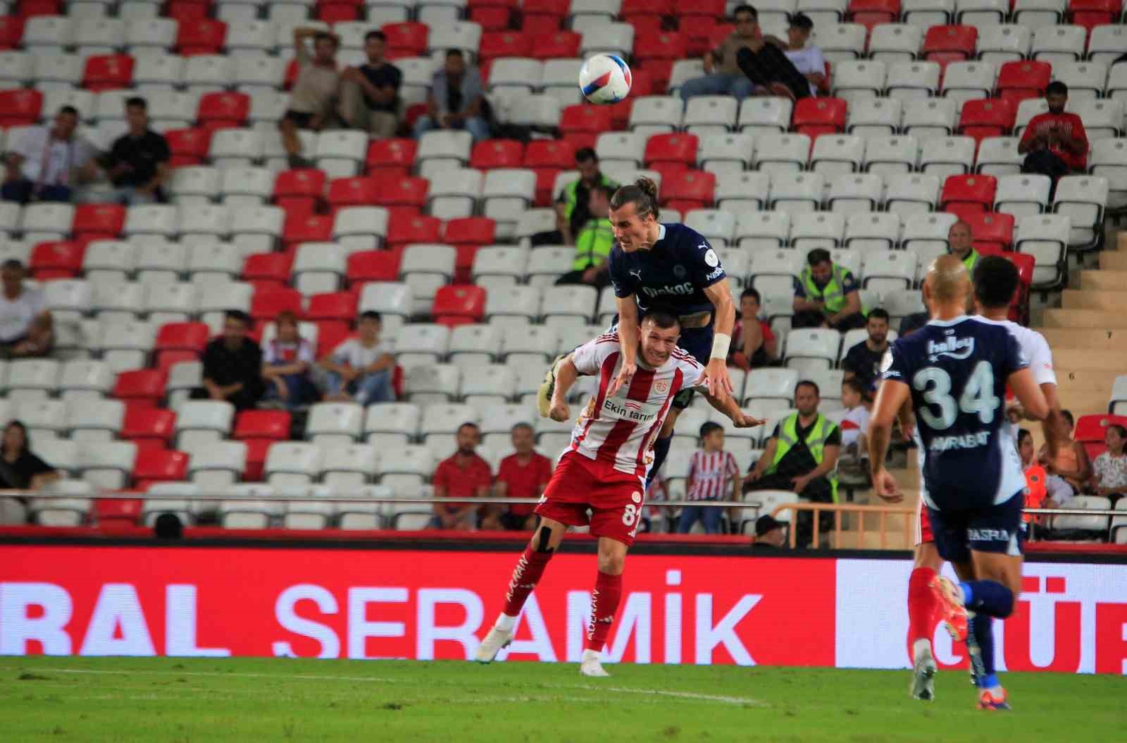
<svg viewBox="0 0 1127 743">
<path fill-rule="evenodd" d="M 949 563 L 969 563 L 970 551 L 1020 556 L 1024 551 L 1026 530 L 1021 510 L 1024 490 L 997 505 L 937 511 L 928 507 L 931 533 L 939 555 Z"/>
</svg>

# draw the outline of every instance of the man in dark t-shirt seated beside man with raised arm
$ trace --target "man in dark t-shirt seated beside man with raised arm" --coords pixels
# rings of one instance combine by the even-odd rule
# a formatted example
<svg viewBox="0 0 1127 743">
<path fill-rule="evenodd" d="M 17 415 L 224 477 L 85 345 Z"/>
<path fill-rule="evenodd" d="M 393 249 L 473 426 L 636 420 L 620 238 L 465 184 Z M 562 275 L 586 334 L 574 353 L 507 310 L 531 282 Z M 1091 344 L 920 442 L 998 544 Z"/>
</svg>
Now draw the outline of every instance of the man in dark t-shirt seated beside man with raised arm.
<svg viewBox="0 0 1127 743">
<path fill-rule="evenodd" d="M 362 129 L 388 139 L 399 129 L 399 85 L 403 73 L 383 58 L 388 37 L 370 30 L 364 36 L 367 64 L 340 73 L 340 118 L 348 129 Z"/>
</svg>

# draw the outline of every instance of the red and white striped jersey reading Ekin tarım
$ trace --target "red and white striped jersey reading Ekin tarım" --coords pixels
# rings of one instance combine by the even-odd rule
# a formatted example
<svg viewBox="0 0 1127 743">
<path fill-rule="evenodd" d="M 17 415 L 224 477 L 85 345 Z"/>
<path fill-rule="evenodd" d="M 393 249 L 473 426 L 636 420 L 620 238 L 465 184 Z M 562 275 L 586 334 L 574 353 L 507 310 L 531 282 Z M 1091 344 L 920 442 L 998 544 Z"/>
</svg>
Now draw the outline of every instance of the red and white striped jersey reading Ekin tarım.
<svg viewBox="0 0 1127 743">
<path fill-rule="evenodd" d="M 654 441 L 669 413 L 673 397 L 698 387 L 704 368 L 681 348 L 657 369 L 641 359 L 629 387 L 613 398 L 606 390 L 618 375 L 622 354 L 619 334 L 607 333 L 588 340 L 571 354 L 580 374 L 598 377 L 598 387 L 571 432 L 571 450 L 587 459 L 601 460 L 619 470 L 646 477 L 654 463 Z"/>
</svg>

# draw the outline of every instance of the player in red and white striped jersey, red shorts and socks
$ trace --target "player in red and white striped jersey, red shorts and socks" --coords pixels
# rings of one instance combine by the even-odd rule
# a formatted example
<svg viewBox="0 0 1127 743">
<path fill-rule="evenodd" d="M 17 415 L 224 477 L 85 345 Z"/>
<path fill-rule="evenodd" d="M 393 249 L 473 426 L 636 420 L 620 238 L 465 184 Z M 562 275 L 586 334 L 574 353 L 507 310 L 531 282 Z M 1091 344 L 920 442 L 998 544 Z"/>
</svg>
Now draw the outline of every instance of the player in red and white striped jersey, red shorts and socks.
<svg viewBox="0 0 1127 743">
<path fill-rule="evenodd" d="M 609 675 L 598 660 L 622 598 L 622 569 L 641 521 L 646 476 L 654 466 L 654 439 L 682 392 L 702 389 L 716 409 L 737 427 L 762 421 L 745 416 L 730 395 L 722 398 L 707 386 L 708 373 L 677 347 L 681 324 L 676 315 L 651 307 L 630 342 L 630 359 L 618 333 L 585 343 L 557 362 L 549 414 L 567 421 L 567 393 L 579 374 L 598 375 L 598 391 L 579 415 L 571 445 L 552 474 L 536 506 L 540 527 L 513 570 L 505 608 L 478 647 L 476 658 L 489 663 L 513 639 L 521 607 L 543 575 L 568 527 L 585 527 L 598 538 L 598 575 L 591 594 L 591 623 L 584 640 L 579 672 Z M 615 384 L 622 369 L 633 369 L 629 383 Z M 591 515 L 587 515 L 587 510 Z"/>
</svg>

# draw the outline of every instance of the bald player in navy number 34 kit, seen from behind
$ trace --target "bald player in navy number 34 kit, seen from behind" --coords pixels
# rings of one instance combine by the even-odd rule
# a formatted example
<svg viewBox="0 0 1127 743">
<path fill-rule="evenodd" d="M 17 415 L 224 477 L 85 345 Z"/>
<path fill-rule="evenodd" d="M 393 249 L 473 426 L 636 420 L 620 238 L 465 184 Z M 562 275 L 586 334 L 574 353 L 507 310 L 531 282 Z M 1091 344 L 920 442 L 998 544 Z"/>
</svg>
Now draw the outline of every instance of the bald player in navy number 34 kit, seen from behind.
<svg viewBox="0 0 1127 743">
<path fill-rule="evenodd" d="M 1026 478 L 1005 418 L 1006 386 L 1028 417 L 1049 415 L 1017 338 L 1004 326 L 966 315 L 970 276 L 956 256 L 932 262 L 923 286 L 932 320 L 893 344 L 869 422 L 872 487 L 904 496 L 885 469 L 893 421 L 911 401 L 924 452 L 921 498 L 935 548 L 959 583 L 937 576 L 929 587 L 951 637 L 968 639 L 978 707 L 1010 709 L 994 667 L 991 618 L 1013 611 L 1021 590 L 1021 510 Z M 932 671 L 934 673 L 934 671 Z"/>
</svg>

